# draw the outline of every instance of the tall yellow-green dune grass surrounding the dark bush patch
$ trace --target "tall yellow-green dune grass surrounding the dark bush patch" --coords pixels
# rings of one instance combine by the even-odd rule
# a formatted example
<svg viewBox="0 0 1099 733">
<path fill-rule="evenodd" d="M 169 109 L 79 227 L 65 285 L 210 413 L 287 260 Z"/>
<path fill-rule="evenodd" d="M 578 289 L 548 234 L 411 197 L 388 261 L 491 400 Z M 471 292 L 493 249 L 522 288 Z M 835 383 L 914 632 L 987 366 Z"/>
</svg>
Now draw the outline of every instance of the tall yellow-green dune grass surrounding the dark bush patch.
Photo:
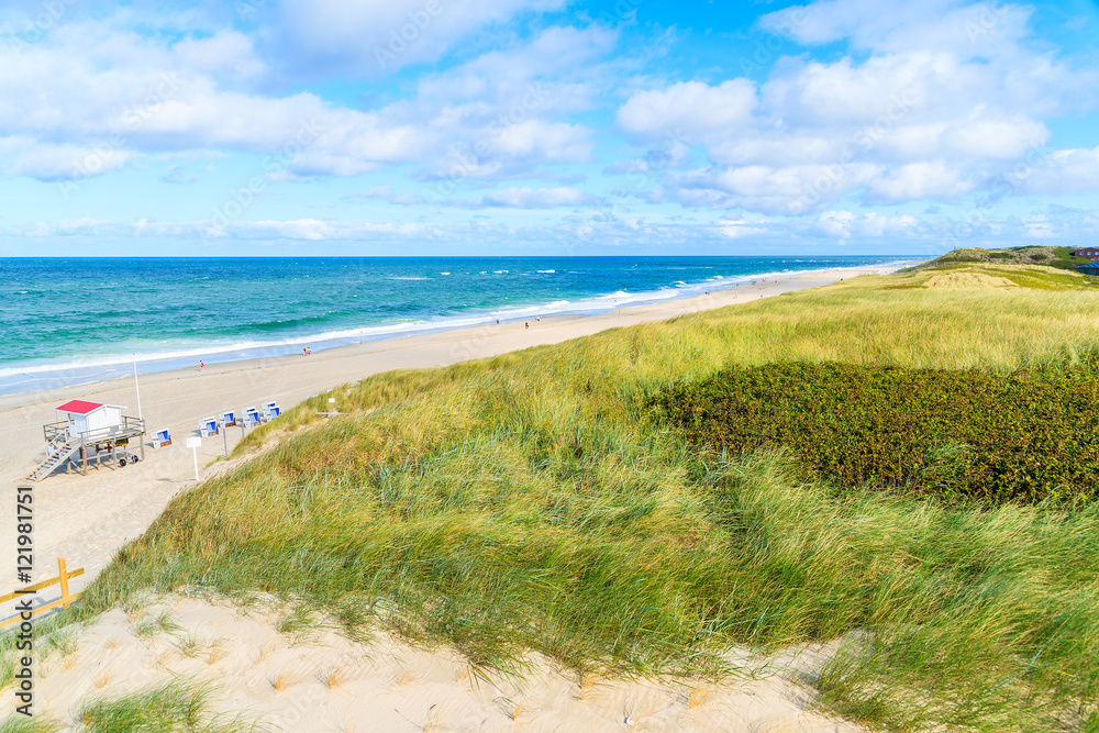
<svg viewBox="0 0 1099 733">
<path fill-rule="evenodd" d="M 981 267 L 985 267 L 984 265 Z M 781 453 L 710 456 L 646 397 L 775 360 L 1002 373 L 1099 351 L 1099 292 L 917 273 L 370 377 L 254 431 L 71 619 L 142 589 L 274 591 L 507 667 L 728 671 L 722 649 L 868 632 L 822 700 L 893 730 L 1096 730 L 1099 509 L 842 498 Z M 897 285 L 915 285 L 897 289 Z M 340 412 L 319 419 L 328 399 Z"/>
</svg>

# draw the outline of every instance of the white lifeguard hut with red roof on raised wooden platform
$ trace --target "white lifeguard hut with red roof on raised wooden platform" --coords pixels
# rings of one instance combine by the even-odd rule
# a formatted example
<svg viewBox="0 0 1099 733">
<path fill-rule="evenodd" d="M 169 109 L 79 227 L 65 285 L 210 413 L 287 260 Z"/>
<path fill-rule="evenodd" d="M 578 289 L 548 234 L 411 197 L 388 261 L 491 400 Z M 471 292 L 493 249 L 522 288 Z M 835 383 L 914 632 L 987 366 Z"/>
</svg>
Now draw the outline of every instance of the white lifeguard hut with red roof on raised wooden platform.
<svg viewBox="0 0 1099 733">
<path fill-rule="evenodd" d="M 71 400 L 54 408 L 55 412 L 65 415 L 65 420 L 42 426 L 46 438 L 46 459 L 23 480 L 41 481 L 74 456 L 82 464 L 85 476 L 88 475 L 89 458 L 96 459 L 97 467 L 104 455 L 113 459 L 119 448 L 125 451 L 132 438 L 141 438 L 145 434 L 145 422 L 140 418 L 122 414 L 124 409 L 119 404 L 86 400 Z M 145 443 L 141 440 L 138 443 L 141 457 L 144 458 Z M 131 459 L 136 460 L 136 456 Z M 125 455 L 119 464 L 126 465 Z"/>
</svg>

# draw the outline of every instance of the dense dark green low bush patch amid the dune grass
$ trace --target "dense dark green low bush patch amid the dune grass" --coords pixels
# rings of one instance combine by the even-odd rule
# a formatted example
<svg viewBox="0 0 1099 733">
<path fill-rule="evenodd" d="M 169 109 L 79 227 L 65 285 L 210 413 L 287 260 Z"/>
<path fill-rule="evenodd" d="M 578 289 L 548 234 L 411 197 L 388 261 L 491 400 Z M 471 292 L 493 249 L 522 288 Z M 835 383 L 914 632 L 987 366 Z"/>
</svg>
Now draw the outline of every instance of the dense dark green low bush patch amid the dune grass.
<svg viewBox="0 0 1099 733">
<path fill-rule="evenodd" d="M 837 487 L 1099 497 L 1099 356 L 1009 375 L 777 363 L 666 389 L 648 407 L 699 445 L 786 447 L 807 478 Z"/>
</svg>

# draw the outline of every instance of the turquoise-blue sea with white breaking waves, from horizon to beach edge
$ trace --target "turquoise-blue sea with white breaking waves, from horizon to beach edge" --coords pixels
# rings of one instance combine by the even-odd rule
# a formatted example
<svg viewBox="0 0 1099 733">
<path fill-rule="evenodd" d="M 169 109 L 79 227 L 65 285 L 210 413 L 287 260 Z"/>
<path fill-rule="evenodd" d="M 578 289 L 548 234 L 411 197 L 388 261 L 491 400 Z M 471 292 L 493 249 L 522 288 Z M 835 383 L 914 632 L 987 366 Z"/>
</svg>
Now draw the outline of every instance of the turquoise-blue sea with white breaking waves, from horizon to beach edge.
<svg viewBox="0 0 1099 733">
<path fill-rule="evenodd" d="M 359 341 L 596 313 L 881 257 L 0 260 L 0 395 Z"/>
</svg>

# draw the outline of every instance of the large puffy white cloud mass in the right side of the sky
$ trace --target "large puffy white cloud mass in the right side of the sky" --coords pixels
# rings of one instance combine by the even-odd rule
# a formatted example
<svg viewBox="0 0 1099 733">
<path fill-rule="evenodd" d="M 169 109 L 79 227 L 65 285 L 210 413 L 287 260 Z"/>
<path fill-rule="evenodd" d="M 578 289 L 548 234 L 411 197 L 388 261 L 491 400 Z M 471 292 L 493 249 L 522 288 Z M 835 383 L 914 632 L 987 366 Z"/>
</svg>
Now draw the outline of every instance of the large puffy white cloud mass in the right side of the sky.
<svg viewBox="0 0 1099 733">
<path fill-rule="evenodd" d="M 665 176 L 673 190 L 651 193 L 654 201 L 798 214 L 848 192 L 866 203 L 957 200 L 1046 144 L 1040 115 L 1090 103 L 1078 89 L 1094 73 L 1081 77 L 1031 49 L 1029 13 L 954 1 L 896 13 L 866 0 L 786 9 L 761 24 L 800 43 L 848 40 L 872 53 L 786 57 L 758 87 L 729 79 L 637 91 L 618 123 L 639 142 L 678 130 L 707 153 L 710 167 Z M 1073 160 L 1068 179 L 1086 186 L 1089 158 Z"/>
</svg>

